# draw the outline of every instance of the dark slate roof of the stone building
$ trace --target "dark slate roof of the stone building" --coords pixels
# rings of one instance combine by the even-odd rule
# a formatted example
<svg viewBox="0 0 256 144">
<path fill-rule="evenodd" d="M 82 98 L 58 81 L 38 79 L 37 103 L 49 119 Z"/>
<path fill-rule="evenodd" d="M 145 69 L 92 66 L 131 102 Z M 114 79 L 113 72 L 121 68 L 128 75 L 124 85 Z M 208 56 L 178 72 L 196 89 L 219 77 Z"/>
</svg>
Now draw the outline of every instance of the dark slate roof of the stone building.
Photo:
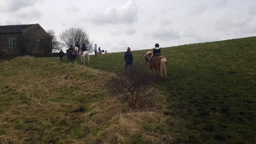
<svg viewBox="0 0 256 144">
<path fill-rule="evenodd" d="M 19 33 L 35 25 L 36 24 L 0 26 L 0 34 Z"/>
</svg>

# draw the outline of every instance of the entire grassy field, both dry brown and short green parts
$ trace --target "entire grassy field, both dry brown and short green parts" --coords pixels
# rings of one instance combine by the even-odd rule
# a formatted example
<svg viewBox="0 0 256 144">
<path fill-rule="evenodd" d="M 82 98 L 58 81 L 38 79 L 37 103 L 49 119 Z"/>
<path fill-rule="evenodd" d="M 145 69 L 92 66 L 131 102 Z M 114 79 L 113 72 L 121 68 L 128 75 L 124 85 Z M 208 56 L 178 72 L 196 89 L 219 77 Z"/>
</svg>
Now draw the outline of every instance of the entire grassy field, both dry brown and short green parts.
<svg viewBox="0 0 256 144">
<path fill-rule="evenodd" d="M 134 51 L 134 62 L 147 51 Z M 256 37 L 162 54 L 168 77 L 152 86 L 163 99 L 141 110 L 106 102 L 102 84 L 124 67 L 123 52 L 91 55 L 93 69 L 67 58 L 0 62 L 0 142 L 255 143 Z"/>
</svg>

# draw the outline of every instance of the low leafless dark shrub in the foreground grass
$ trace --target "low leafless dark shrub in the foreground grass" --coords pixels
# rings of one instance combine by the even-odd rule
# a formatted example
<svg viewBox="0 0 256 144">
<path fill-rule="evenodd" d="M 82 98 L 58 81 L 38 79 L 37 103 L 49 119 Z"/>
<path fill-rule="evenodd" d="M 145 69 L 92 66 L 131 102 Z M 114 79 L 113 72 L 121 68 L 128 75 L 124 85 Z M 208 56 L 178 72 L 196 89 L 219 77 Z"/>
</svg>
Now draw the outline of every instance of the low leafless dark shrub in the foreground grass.
<svg viewBox="0 0 256 144">
<path fill-rule="evenodd" d="M 155 77 L 143 65 L 135 64 L 130 69 L 113 76 L 107 88 L 115 100 L 128 102 L 130 107 L 140 108 L 151 105 L 157 98 L 157 91 L 151 88 Z"/>
</svg>

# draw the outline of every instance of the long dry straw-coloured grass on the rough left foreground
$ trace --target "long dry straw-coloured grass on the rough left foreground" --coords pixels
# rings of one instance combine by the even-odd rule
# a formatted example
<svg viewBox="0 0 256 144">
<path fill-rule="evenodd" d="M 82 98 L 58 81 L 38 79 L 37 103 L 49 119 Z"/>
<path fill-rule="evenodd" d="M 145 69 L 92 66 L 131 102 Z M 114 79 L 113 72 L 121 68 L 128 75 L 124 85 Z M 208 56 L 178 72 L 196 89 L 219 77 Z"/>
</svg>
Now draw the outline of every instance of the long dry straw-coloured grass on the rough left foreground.
<svg viewBox="0 0 256 144">
<path fill-rule="evenodd" d="M 169 143 L 177 118 L 161 109 L 109 103 L 109 73 L 53 58 L 24 56 L 0 70 L 0 143 Z M 84 111 L 74 112 L 83 107 Z M 168 119 L 168 120 L 167 120 Z M 161 132 L 159 129 L 163 129 Z"/>
</svg>

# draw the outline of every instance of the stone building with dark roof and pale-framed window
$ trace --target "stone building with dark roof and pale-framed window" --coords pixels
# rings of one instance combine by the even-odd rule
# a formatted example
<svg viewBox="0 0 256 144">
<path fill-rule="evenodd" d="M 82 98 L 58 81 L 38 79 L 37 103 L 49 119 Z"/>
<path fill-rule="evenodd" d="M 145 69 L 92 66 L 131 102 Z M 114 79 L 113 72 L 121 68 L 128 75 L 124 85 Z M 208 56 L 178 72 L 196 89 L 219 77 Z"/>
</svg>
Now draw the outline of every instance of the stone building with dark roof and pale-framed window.
<svg viewBox="0 0 256 144">
<path fill-rule="evenodd" d="M 0 55 L 50 55 L 51 42 L 38 23 L 0 26 Z"/>
</svg>

